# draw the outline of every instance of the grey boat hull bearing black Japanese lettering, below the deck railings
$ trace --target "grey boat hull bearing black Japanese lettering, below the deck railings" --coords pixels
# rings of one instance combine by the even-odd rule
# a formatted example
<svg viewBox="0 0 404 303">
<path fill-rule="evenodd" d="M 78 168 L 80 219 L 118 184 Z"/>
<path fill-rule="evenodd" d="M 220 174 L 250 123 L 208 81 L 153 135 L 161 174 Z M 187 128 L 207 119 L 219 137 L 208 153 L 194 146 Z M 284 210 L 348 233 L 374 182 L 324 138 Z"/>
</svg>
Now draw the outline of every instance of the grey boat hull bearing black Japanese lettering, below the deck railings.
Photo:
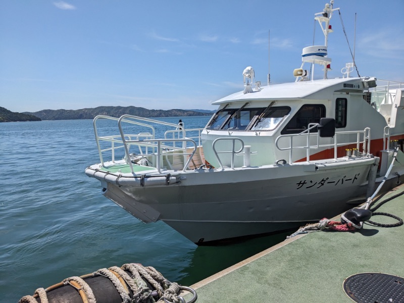
<svg viewBox="0 0 404 303">
<path fill-rule="evenodd" d="M 201 244 L 271 233 L 333 217 L 366 193 L 373 158 L 319 165 L 203 171 L 172 185 L 118 186 L 104 195 L 143 222 L 162 220 Z M 243 181 L 252 180 L 252 181 Z"/>
</svg>

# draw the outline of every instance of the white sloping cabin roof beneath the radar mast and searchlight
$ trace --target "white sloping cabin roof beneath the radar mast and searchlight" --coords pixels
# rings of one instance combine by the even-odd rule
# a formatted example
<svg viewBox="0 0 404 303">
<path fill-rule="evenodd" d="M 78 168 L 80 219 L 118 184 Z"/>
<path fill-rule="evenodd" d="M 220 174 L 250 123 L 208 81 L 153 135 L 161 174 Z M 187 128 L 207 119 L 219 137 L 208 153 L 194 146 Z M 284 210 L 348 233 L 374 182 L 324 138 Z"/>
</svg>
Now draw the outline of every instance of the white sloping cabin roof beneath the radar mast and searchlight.
<svg viewBox="0 0 404 303">
<path fill-rule="evenodd" d="M 345 85 L 344 85 L 345 84 Z M 346 87 L 350 84 L 350 87 Z M 263 86 L 261 90 L 244 94 L 233 93 L 212 103 L 221 105 L 244 100 L 285 100 L 285 99 L 331 99 L 334 91 L 363 91 L 362 78 L 336 78 L 314 81 L 299 81 Z"/>
</svg>

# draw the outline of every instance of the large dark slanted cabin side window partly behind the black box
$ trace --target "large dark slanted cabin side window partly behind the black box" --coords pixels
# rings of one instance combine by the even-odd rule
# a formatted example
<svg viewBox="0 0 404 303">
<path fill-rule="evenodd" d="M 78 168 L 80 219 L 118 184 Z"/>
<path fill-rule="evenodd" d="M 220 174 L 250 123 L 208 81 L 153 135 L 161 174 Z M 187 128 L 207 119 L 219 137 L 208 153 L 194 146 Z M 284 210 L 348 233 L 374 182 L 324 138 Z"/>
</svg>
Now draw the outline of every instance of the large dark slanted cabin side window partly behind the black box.
<svg viewBox="0 0 404 303">
<path fill-rule="evenodd" d="M 286 124 L 281 134 L 300 133 L 308 128 L 309 123 L 320 123 L 321 118 L 325 118 L 324 105 L 306 104 Z M 317 128 L 313 128 L 310 132 L 317 132 Z"/>
</svg>

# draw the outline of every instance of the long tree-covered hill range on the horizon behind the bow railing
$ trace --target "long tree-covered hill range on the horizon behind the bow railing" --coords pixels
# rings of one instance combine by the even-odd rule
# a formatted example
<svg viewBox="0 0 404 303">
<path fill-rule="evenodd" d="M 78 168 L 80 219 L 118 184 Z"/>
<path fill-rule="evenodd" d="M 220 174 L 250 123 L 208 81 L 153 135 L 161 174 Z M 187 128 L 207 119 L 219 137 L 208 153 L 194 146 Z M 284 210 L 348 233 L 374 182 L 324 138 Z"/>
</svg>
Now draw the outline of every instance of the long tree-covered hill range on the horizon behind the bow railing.
<svg viewBox="0 0 404 303">
<path fill-rule="evenodd" d="M 133 115 L 145 118 L 154 117 L 187 117 L 187 116 L 210 116 L 212 113 L 203 113 L 193 110 L 147 110 L 145 108 L 128 106 L 99 106 L 90 109 L 81 110 L 43 110 L 39 112 L 25 114 L 35 115 L 42 120 L 77 120 L 77 119 L 93 119 L 98 115 L 106 115 L 119 118 L 122 115 Z"/>
</svg>

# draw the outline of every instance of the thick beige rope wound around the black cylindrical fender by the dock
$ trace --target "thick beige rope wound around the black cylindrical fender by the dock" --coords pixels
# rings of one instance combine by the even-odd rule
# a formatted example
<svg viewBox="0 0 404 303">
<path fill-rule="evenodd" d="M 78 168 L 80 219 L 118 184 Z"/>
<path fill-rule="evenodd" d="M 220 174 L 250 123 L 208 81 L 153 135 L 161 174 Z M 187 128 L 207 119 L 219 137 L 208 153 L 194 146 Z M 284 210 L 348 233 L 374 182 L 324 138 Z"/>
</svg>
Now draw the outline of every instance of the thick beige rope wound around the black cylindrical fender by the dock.
<svg viewBox="0 0 404 303">
<path fill-rule="evenodd" d="M 92 274 L 81 277 L 70 277 L 46 289 L 38 288 L 35 290 L 34 295 L 23 296 L 18 303 L 37 303 L 37 298 L 40 299 L 41 303 L 48 303 L 47 293 L 65 285 L 74 287 L 79 292 L 84 303 L 96 303 L 91 287 L 85 282 L 86 279 L 96 276 L 108 278 L 117 289 L 123 303 L 156 303 L 157 301 L 193 303 L 197 298 L 195 290 L 170 282 L 154 267 L 144 267 L 139 263 L 128 263 L 120 268 L 113 266 L 109 269 L 99 269 Z M 185 301 L 180 296 L 182 290 L 187 290 L 193 294 L 189 301 Z"/>
</svg>

